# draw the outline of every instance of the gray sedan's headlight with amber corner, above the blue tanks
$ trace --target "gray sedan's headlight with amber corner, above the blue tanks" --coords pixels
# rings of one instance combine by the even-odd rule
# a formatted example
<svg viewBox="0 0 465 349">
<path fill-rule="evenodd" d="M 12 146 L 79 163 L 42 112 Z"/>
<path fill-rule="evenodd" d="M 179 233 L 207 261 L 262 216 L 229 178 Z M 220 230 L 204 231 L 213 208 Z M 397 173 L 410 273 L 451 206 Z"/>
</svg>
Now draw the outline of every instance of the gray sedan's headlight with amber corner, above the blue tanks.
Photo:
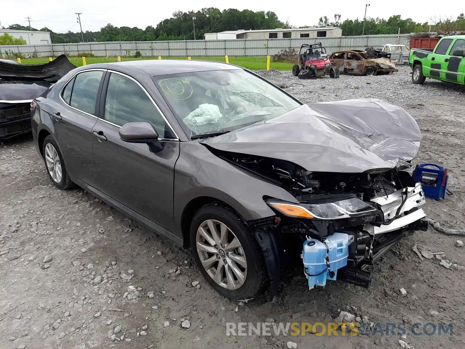
<svg viewBox="0 0 465 349">
<path fill-rule="evenodd" d="M 379 212 L 370 204 L 356 197 L 315 204 L 293 204 L 286 201 L 268 200 L 267 204 L 289 217 L 321 220 L 359 217 Z"/>
</svg>

